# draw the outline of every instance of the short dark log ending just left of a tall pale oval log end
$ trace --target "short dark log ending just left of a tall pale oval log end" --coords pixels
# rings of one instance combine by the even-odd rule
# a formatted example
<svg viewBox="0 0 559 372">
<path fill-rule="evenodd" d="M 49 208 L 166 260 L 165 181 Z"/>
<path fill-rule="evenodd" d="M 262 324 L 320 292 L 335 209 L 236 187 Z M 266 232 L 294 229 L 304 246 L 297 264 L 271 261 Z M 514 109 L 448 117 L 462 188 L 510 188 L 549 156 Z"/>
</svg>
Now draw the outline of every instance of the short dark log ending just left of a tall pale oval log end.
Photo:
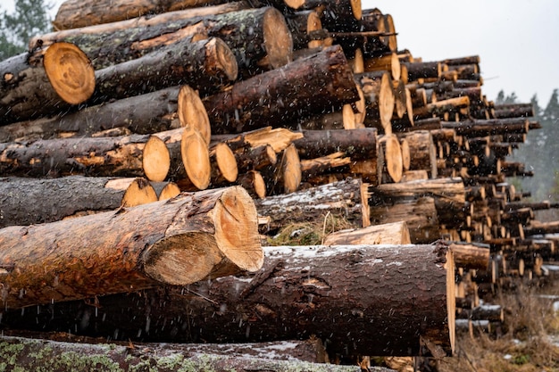
<svg viewBox="0 0 559 372">
<path fill-rule="evenodd" d="M 313 159 L 338 151 L 352 160 L 375 160 L 379 154 L 376 128 L 353 130 L 303 130 L 293 143 L 302 159 Z"/>
</svg>

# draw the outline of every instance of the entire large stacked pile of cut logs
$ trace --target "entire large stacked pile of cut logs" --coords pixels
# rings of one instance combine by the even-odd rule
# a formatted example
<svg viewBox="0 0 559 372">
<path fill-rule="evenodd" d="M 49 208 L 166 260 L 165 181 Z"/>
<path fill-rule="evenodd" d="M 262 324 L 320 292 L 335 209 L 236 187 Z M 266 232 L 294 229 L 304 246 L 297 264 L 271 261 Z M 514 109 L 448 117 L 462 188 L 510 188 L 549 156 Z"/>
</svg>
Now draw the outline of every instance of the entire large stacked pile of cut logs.
<svg viewBox="0 0 559 372">
<path fill-rule="evenodd" d="M 482 95 L 478 56 L 423 62 L 352 0 L 136 3 L 67 0 L 0 62 L 5 331 L 316 338 L 371 368 L 452 355 L 455 328 L 502 321 L 480 293 L 557 259 L 534 211 L 558 205 L 506 182 L 531 176 L 506 157 L 538 123 Z M 330 215 L 354 228 L 260 247 Z"/>
</svg>

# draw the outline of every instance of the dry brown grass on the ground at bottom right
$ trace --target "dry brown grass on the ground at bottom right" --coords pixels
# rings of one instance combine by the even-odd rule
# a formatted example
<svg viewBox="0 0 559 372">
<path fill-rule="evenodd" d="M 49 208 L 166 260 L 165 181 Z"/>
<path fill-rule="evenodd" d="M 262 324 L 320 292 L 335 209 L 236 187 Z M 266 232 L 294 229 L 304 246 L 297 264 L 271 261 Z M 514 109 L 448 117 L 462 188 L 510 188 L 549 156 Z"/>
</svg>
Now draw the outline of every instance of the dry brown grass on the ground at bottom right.
<svg viewBox="0 0 559 372">
<path fill-rule="evenodd" d="M 543 289 L 559 294 L 559 285 Z M 440 372 L 531 372 L 559 371 L 559 347 L 549 335 L 559 335 L 559 314 L 552 300 L 538 297 L 541 288 L 520 285 L 513 293 L 495 299 L 505 309 L 502 335 L 481 334 L 473 339 L 460 336 L 456 355 L 437 363 Z"/>
</svg>

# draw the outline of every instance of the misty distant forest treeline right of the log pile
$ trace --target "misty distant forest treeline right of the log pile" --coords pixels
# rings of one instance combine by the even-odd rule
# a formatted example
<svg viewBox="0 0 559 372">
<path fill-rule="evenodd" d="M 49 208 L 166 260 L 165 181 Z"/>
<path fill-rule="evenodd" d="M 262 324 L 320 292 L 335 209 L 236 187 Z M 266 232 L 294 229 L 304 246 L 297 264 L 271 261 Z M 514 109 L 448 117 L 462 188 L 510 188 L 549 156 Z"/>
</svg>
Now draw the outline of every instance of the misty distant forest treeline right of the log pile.
<svg viewBox="0 0 559 372">
<path fill-rule="evenodd" d="M 517 188 L 530 191 L 534 201 L 559 201 L 559 93 L 555 89 L 545 107 L 539 105 L 538 96 L 533 95 L 534 120 L 542 128 L 531 130 L 526 142 L 513 153 L 514 161 L 521 161 L 526 169 L 533 170 L 534 177 L 512 178 Z M 501 90 L 496 96 L 496 104 L 520 103 L 512 93 L 505 95 Z"/>
</svg>

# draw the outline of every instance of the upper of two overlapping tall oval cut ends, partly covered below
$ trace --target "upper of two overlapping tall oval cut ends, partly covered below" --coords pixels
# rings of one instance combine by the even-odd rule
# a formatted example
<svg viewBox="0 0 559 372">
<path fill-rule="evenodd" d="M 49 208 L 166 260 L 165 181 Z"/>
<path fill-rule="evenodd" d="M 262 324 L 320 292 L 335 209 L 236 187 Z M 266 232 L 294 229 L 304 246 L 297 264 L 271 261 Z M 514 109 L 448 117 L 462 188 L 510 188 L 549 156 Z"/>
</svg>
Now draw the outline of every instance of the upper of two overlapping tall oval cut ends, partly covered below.
<svg viewBox="0 0 559 372">
<path fill-rule="evenodd" d="M 196 129 L 204 138 L 207 145 L 210 144 L 212 128 L 210 119 L 205 111 L 204 103 L 198 93 L 191 87 L 180 87 L 177 103 L 180 126 Z"/>
</svg>

